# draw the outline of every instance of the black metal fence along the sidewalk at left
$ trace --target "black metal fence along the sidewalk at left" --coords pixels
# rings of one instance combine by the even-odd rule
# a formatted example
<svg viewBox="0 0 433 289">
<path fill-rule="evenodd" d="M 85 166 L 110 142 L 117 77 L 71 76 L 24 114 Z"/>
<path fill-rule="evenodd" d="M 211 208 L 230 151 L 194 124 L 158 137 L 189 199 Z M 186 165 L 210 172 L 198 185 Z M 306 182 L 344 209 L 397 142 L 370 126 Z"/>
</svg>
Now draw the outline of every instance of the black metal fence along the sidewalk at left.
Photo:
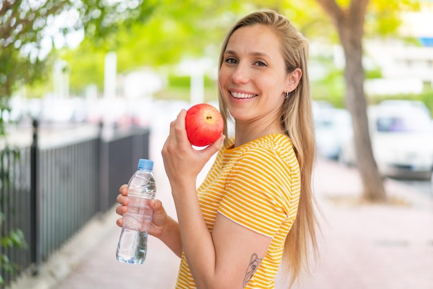
<svg viewBox="0 0 433 289">
<path fill-rule="evenodd" d="M 102 129 L 72 131 L 68 135 L 73 140 L 60 136 L 50 143 L 42 142 L 34 122 L 30 147 L 0 150 L 0 236 L 19 229 L 28 245 L 19 249 L 0 243 L 0 254 L 17 266 L 13 273 L 0 264 L 4 286 L 17 272 L 37 273 L 75 232 L 111 208 L 120 185 L 136 171 L 138 158 L 149 157 L 149 129 L 114 130 L 110 137 Z"/>
</svg>

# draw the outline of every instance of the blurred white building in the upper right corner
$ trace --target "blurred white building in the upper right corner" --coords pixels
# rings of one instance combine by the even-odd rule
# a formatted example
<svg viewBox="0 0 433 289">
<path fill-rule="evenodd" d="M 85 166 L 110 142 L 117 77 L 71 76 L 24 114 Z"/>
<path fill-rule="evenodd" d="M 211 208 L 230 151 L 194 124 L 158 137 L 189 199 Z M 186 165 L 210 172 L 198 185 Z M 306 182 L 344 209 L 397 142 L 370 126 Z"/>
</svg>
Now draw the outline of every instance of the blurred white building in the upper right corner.
<svg viewBox="0 0 433 289">
<path fill-rule="evenodd" d="M 418 39 L 418 46 L 397 39 L 367 42 L 367 55 L 383 75 L 367 80 L 367 93 L 421 93 L 425 84 L 433 87 L 433 1 L 421 2 L 421 11 L 403 15 L 399 30 L 403 37 Z"/>
</svg>

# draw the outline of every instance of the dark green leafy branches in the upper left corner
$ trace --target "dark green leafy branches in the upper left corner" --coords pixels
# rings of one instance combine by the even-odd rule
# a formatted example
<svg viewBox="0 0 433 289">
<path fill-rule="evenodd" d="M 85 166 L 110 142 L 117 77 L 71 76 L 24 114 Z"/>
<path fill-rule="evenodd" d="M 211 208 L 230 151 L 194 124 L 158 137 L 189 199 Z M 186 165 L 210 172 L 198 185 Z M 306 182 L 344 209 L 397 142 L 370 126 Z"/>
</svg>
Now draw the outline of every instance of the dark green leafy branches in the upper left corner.
<svg viewBox="0 0 433 289">
<path fill-rule="evenodd" d="M 95 43 L 116 34 L 120 26 L 143 23 L 158 0 L 4 0 L 0 3 L 0 110 L 8 110 L 8 97 L 19 86 L 48 73 L 46 54 L 59 32 L 84 30 Z M 57 38 L 56 38 L 57 37 Z M 48 51 L 47 51 L 48 50 Z M 0 115 L 0 134 L 3 118 Z"/>
</svg>

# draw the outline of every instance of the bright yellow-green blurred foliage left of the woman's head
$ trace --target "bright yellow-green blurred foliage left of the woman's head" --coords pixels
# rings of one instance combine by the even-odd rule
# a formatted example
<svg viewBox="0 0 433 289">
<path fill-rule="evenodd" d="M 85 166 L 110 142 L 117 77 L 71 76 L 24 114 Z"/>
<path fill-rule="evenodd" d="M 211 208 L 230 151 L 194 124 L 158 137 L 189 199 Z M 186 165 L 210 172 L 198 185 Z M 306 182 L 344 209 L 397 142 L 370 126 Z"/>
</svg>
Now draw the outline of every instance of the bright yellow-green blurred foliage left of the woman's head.
<svg viewBox="0 0 433 289">
<path fill-rule="evenodd" d="M 212 55 L 216 61 L 225 28 L 248 10 L 243 1 L 161 0 L 146 23 L 120 26 L 116 35 L 103 43 L 91 38 L 80 46 L 59 51 L 59 57 L 71 65 L 71 88 L 81 92 L 89 84 L 102 89 L 104 55 L 114 51 L 118 73 L 140 67 L 160 68 Z"/>
</svg>

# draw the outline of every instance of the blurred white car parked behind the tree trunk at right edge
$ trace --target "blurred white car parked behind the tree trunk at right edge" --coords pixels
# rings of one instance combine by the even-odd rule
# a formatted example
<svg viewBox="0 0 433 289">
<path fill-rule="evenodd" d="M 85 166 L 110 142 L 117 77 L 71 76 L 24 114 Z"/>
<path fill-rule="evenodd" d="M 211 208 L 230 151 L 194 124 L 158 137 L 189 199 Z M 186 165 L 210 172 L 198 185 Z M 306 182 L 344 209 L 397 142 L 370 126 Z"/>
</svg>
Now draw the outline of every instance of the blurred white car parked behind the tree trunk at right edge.
<svg viewBox="0 0 433 289">
<path fill-rule="evenodd" d="M 374 158 L 380 174 L 394 178 L 432 178 L 433 126 L 428 109 L 418 102 L 387 101 L 367 109 Z M 340 160 L 356 164 L 353 138 Z"/>
</svg>

